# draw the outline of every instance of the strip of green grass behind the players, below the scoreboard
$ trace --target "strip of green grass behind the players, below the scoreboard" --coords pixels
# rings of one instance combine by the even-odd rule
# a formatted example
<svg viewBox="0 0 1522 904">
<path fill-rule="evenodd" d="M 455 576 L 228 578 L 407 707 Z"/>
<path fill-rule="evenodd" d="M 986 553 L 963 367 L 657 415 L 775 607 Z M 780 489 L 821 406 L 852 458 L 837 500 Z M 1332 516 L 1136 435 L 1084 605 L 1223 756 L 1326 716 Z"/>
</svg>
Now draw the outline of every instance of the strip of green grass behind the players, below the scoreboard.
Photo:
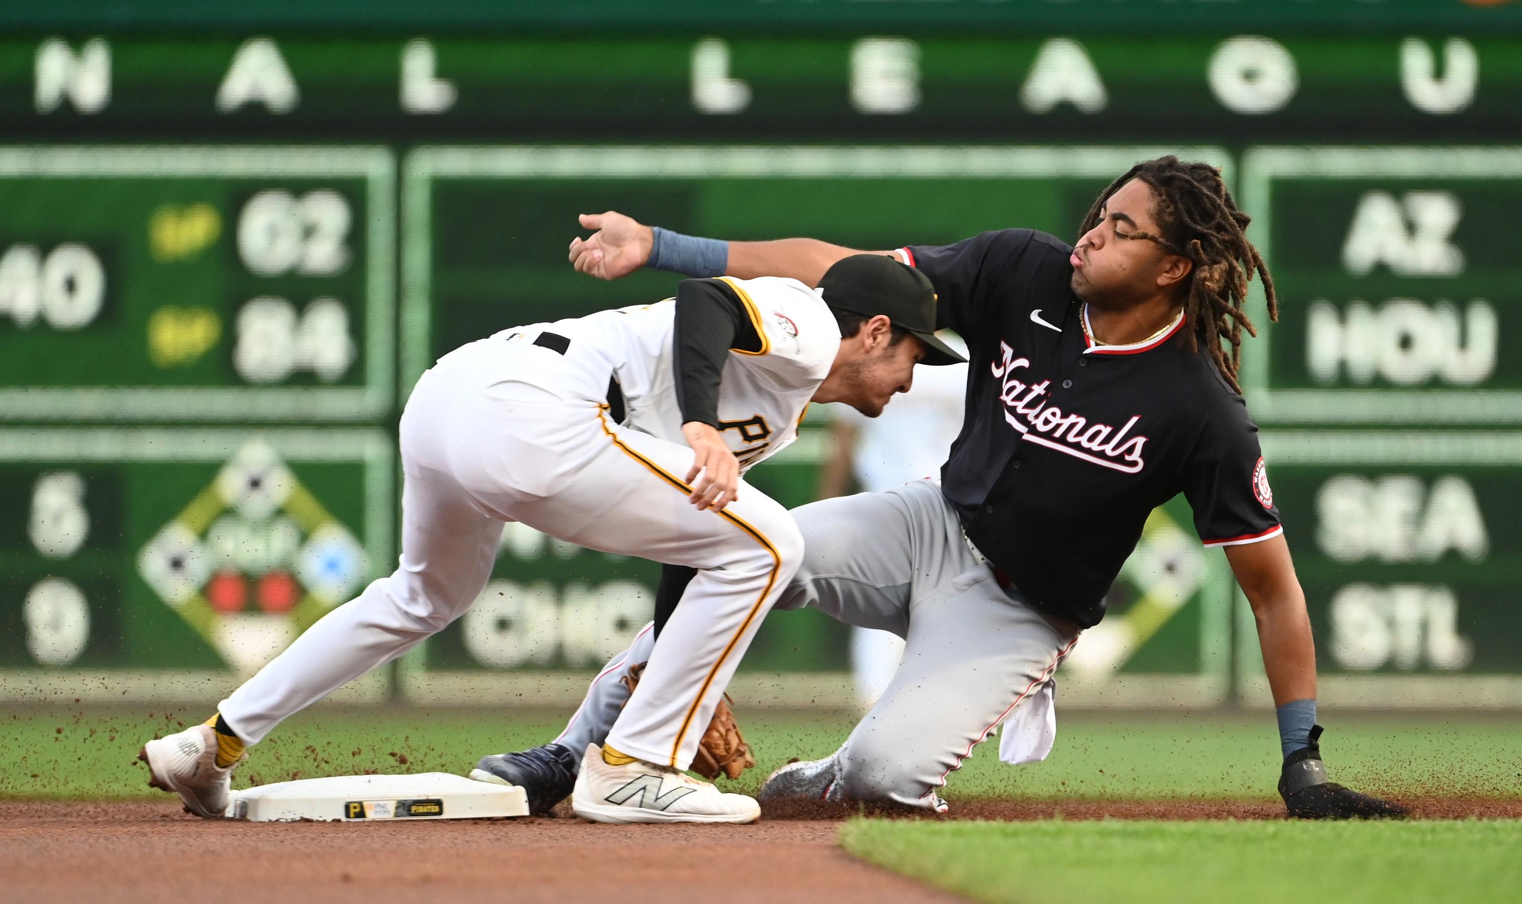
<svg viewBox="0 0 1522 904">
<path fill-rule="evenodd" d="M 0 797 L 145 797 L 137 749 L 210 709 L 139 706 L 0 708 Z M 568 714 L 556 711 L 315 708 L 254 747 L 239 787 L 294 776 L 467 772 L 482 753 L 543 743 Z M 758 769 L 726 787 L 753 791 L 790 756 L 825 756 L 854 723 L 848 712 L 741 709 Z M 1344 784 L 1385 793 L 1522 797 L 1522 729 L 1516 717 L 1338 715 L 1323 750 Z M 394 756 L 393 756 L 394 753 Z M 405 762 L 402 759 L 405 758 Z M 1278 744 L 1272 714 L 1073 712 L 1058 720 L 1052 758 L 998 762 L 997 738 L 977 749 L 947 788 L 968 797 L 1274 797 Z"/>
</svg>

